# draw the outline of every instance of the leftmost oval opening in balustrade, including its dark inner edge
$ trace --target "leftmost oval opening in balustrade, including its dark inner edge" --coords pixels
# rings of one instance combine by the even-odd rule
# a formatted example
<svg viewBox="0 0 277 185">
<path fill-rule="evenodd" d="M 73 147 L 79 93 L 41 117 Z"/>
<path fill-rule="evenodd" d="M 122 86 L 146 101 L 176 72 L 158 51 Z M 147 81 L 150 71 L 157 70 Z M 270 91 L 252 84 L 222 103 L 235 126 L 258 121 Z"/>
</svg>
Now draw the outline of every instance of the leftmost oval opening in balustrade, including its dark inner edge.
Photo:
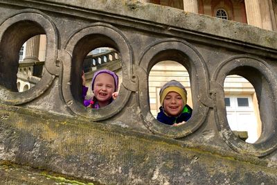
<svg viewBox="0 0 277 185">
<path fill-rule="evenodd" d="M 44 36 L 41 36 L 42 34 Z M 44 62 L 40 62 L 39 59 L 24 61 L 24 58 L 30 56 L 29 54 L 38 58 L 41 37 L 44 37 L 44 48 L 46 48 L 45 30 L 35 21 L 18 21 L 4 31 L 0 43 L 1 86 L 12 92 L 20 92 L 26 90 L 22 86 L 26 83 L 28 89 L 36 85 L 42 77 L 42 70 L 39 72 L 33 70 L 43 69 Z M 28 44 L 29 40 L 32 40 L 30 44 Z M 30 49 L 28 55 L 26 49 Z M 41 55 L 44 55 L 45 58 L 45 53 Z M 29 67 L 31 71 L 28 70 Z M 21 82 L 20 86 L 17 82 Z"/>
</svg>

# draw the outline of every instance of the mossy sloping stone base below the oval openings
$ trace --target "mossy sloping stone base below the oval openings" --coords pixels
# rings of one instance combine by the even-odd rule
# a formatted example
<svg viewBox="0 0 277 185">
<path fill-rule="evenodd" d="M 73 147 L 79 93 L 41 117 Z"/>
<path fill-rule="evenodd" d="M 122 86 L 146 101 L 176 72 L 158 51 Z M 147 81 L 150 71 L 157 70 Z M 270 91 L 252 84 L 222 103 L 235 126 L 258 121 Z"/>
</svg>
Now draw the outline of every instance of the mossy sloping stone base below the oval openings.
<svg viewBox="0 0 277 185">
<path fill-rule="evenodd" d="M 5 110 L 6 109 L 6 110 Z M 9 110 L 9 111 L 8 111 Z M 256 157 L 212 150 L 122 127 L 1 106 L 1 159 L 101 184 L 274 184 Z"/>
</svg>

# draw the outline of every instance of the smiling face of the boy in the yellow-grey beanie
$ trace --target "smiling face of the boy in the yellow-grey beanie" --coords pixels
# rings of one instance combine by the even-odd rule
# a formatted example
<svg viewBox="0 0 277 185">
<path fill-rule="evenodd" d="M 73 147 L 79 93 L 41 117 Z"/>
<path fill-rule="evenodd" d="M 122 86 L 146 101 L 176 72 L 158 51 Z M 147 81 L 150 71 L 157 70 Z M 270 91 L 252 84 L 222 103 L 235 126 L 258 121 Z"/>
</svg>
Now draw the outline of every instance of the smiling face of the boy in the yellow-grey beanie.
<svg viewBox="0 0 277 185">
<path fill-rule="evenodd" d="M 170 91 L 163 100 L 163 110 L 168 116 L 178 116 L 184 109 L 184 100 L 175 91 Z"/>
</svg>

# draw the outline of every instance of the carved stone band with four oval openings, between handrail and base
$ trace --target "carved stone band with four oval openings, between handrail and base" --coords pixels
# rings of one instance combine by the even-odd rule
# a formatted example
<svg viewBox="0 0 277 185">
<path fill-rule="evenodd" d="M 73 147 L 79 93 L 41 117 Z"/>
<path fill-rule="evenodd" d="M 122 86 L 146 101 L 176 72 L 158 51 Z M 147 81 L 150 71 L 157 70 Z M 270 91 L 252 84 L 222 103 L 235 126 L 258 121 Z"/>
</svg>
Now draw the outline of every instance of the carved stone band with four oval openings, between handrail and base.
<svg viewBox="0 0 277 185">
<path fill-rule="evenodd" d="M 242 51 L 248 51 L 242 46 L 237 47 L 238 42 L 226 42 L 204 33 L 197 35 L 173 26 L 150 25 L 143 21 L 135 25 L 134 21 L 116 17 L 113 17 L 118 20 L 116 23 L 107 17 L 101 21 L 93 13 L 85 20 L 78 16 L 75 19 L 78 21 L 74 22 L 66 15 L 62 18 L 55 13 L 48 15 L 33 9 L 14 10 L 1 17 L 1 103 L 24 104 L 89 121 L 116 123 L 172 139 L 186 139 L 199 130 L 197 142 L 202 142 L 203 133 L 208 133 L 208 138 L 215 143 L 204 142 L 214 146 L 222 145 L 221 141 L 216 143 L 219 134 L 222 138 L 218 138 L 235 152 L 258 157 L 276 150 L 277 136 L 271 132 L 276 130 L 276 118 L 272 116 L 277 113 L 276 74 L 271 63 L 262 59 L 265 56 L 274 58 L 274 51 L 264 54 L 260 50 L 262 46 L 256 49 L 249 45 L 249 54 L 240 55 Z M 64 21 L 72 21 L 72 25 L 60 26 Z M 19 48 L 28 38 L 39 34 L 47 37 L 46 70 L 35 87 L 19 93 L 15 82 Z M 82 62 L 89 51 L 101 46 L 110 46 L 120 55 L 123 82 L 114 103 L 102 109 L 88 109 L 80 100 Z M 256 51 L 257 56 L 254 55 Z M 179 62 L 190 75 L 193 117 L 181 127 L 163 125 L 150 113 L 148 76 L 152 67 L 162 60 Z M 267 110 L 261 111 L 264 131 L 254 144 L 240 141 L 229 128 L 223 89 L 224 79 L 229 74 L 247 78 L 257 91 L 260 109 Z M 54 100 L 48 101 L 49 98 Z"/>
</svg>

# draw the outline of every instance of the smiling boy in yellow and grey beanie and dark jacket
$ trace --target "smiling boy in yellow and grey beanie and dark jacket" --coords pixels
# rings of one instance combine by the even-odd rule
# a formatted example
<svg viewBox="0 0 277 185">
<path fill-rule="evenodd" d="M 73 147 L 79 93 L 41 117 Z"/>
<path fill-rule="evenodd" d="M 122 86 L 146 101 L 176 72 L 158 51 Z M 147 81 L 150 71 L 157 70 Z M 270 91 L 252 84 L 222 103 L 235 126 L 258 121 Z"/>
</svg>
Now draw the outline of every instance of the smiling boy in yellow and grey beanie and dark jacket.
<svg viewBox="0 0 277 185">
<path fill-rule="evenodd" d="M 187 92 L 177 80 L 166 82 L 159 92 L 161 107 L 157 120 L 167 125 L 178 126 L 186 123 L 193 113 L 187 102 Z"/>
</svg>

